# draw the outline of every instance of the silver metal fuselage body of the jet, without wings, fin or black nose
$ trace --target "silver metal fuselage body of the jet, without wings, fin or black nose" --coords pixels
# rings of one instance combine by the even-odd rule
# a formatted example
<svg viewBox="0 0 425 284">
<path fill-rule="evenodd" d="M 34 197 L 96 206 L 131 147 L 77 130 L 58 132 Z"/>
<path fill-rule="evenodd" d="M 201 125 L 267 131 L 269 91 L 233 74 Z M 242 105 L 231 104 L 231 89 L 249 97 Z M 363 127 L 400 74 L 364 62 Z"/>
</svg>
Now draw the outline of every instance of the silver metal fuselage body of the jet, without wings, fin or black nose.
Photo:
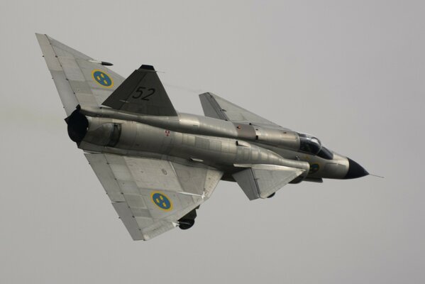
<svg viewBox="0 0 425 284">
<path fill-rule="evenodd" d="M 304 169 L 293 182 L 343 179 L 348 173 L 348 158 L 332 153 L 326 159 L 300 151 L 300 134 L 289 129 L 194 114 L 144 116 L 107 108 L 77 109 L 73 115 L 87 119 L 82 140 L 77 141 L 86 151 L 194 160 L 223 170 L 228 180 L 240 170 L 235 164 Z M 70 131 L 72 124 L 67 122 Z"/>
</svg>

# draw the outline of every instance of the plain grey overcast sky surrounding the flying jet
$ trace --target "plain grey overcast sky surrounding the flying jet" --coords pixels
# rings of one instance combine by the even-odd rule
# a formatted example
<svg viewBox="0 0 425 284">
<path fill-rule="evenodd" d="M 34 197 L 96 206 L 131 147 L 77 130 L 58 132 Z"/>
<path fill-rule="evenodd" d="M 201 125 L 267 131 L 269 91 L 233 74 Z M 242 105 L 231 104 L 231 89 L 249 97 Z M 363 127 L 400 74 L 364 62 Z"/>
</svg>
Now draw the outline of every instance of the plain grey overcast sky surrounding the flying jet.
<svg viewBox="0 0 425 284">
<path fill-rule="evenodd" d="M 0 1 L 0 283 L 424 283 L 424 1 Z M 154 65 L 176 109 L 211 91 L 313 133 L 385 179 L 220 182 L 197 224 L 132 241 L 34 33 L 124 77 Z"/>
</svg>

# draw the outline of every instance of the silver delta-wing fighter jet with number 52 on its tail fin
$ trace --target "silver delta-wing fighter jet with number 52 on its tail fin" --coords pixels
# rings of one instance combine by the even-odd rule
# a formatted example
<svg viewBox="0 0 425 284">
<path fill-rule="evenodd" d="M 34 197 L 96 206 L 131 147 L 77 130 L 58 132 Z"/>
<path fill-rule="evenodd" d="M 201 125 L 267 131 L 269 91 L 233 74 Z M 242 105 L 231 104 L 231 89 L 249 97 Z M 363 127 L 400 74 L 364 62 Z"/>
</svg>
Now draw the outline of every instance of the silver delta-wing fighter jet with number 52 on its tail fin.
<svg viewBox="0 0 425 284">
<path fill-rule="evenodd" d="M 48 35 L 36 34 L 67 118 L 67 133 L 92 166 L 134 240 L 189 229 L 220 180 L 249 200 L 288 183 L 368 175 L 311 135 L 283 128 L 216 94 L 199 94 L 205 116 L 175 110 L 158 73 L 128 78 Z"/>
</svg>

